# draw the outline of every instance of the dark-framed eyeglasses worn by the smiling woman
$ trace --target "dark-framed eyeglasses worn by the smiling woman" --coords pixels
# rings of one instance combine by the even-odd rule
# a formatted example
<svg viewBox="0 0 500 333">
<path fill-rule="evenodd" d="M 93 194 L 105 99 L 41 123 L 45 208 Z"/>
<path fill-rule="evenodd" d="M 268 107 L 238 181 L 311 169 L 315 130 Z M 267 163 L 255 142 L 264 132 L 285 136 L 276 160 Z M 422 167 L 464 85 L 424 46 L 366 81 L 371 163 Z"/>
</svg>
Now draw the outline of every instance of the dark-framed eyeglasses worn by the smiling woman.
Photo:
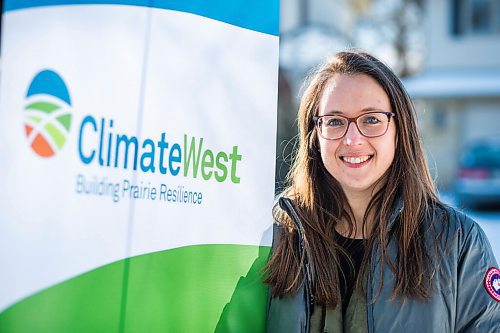
<svg viewBox="0 0 500 333">
<path fill-rule="evenodd" d="M 319 134 L 327 140 L 336 140 L 344 137 L 351 123 L 355 123 L 361 135 L 368 138 L 382 136 L 387 132 L 392 112 L 368 112 L 355 118 L 338 115 L 325 115 L 313 117 Z"/>
</svg>

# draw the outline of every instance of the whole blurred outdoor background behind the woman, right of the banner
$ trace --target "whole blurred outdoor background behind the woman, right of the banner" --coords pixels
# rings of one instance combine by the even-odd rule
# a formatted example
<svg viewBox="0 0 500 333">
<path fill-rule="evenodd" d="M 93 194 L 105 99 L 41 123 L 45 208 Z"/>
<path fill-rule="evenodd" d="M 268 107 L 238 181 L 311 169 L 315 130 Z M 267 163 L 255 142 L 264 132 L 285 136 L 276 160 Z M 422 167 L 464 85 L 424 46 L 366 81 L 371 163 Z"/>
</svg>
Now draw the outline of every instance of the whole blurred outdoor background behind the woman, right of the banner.
<svg viewBox="0 0 500 333">
<path fill-rule="evenodd" d="M 403 79 L 443 200 L 481 224 L 500 259 L 500 0 L 282 0 L 280 24 L 276 190 L 305 77 L 359 47 Z"/>
</svg>

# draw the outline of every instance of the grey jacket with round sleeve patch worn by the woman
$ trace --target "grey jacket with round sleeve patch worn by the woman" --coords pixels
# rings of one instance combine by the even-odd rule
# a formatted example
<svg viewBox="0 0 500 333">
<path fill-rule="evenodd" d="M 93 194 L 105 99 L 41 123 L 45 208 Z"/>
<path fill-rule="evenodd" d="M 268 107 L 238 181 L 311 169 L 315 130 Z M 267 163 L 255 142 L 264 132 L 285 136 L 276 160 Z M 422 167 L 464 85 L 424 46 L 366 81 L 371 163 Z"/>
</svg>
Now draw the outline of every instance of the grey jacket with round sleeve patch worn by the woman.
<svg viewBox="0 0 500 333">
<path fill-rule="evenodd" d="M 402 210 L 402 204 L 396 206 L 390 225 Z M 488 293 L 485 281 L 487 271 L 497 267 L 491 246 L 476 222 L 452 208 L 446 209 L 450 214 L 448 251 L 434 274 L 431 299 L 391 300 L 395 277 L 389 267 L 384 267 L 382 291 L 372 302 L 380 279 L 376 266 L 379 263 L 375 260 L 373 280 L 365 288 L 368 332 L 500 332 L 500 303 Z M 444 213 L 443 208 L 436 210 L 440 210 L 436 216 Z M 280 232 L 280 227 L 275 228 L 273 245 Z M 394 258 L 397 252 L 394 240 L 388 250 Z M 312 306 L 307 284 L 294 296 L 270 299 L 267 332 L 310 332 Z"/>
</svg>

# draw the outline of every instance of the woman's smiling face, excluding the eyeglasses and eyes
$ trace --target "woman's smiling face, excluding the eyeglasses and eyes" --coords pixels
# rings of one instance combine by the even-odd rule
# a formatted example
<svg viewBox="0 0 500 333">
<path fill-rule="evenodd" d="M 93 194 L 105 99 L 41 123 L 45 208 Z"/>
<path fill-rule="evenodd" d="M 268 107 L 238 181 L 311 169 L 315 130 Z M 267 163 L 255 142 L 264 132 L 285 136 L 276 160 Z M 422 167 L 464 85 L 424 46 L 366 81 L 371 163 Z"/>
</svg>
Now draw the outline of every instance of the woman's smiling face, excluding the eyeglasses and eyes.
<svg viewBox="0 0 500 333">
<path fill-rule="evenodd" d="M 383 88 L 364 74 L 335 74 L 328 82 L 319 106 L 319 116 L 354 118 L 367 112 L 392 112 Z M 318 133 L 321 159 L 346 195 L 372 191 L 387 171 L 396 149 L 396 126 L 391 120 L 387 132 L 367 138 L 350 123 L 344 137 L 326 140 Z"/>
</svg>

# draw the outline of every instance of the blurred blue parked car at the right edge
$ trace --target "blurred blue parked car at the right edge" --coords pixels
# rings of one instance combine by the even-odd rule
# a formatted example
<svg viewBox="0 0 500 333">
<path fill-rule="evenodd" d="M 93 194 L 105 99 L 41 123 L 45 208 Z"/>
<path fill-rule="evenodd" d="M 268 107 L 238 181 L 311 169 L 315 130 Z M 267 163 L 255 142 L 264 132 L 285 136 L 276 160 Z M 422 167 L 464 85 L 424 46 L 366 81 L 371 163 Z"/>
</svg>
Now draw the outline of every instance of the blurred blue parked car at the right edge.
<svg viewBox="0 0 500 333">
<path fill-rule="evenodd" d="M 500 138 L 476 141 L 464 150 L 455 193 L 465 207 L 500 209 Z"/>
</svg>

